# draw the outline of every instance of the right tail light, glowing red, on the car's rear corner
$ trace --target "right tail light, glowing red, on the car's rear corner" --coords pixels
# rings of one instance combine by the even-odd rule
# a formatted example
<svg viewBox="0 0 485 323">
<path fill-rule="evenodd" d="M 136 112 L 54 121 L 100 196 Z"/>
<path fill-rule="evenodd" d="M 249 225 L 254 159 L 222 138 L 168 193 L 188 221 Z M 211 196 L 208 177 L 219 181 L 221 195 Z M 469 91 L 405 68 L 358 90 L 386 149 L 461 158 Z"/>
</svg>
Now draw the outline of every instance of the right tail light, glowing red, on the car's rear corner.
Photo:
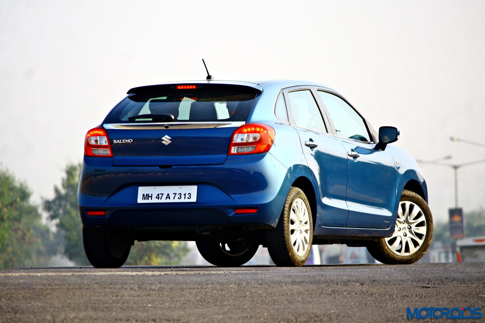
<svg viewBox="0 0 485 323">
<path fill-rule="evenodd" d="M 248 123 L 234 131 L 229 155 L 261 154 L 270 150 L 275 140 L 275 129 L 266 124 Z"/>
</svg>

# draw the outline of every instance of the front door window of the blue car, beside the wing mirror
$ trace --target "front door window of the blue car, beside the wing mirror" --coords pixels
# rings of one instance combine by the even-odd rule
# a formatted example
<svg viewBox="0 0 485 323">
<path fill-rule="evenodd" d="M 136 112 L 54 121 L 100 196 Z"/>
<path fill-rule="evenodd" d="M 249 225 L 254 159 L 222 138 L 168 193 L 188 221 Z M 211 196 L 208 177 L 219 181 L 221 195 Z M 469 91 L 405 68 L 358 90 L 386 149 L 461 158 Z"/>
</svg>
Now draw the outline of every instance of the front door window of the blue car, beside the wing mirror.
<svg viewBox="0 0 485 323">
<path fill-rule="evenodd" d="M 364 120 L 358 115 L 356 110 L 336 95 L 323 91 L 318 91 L 318 94 L 330 114 L 338 136 L 360 141 L 370 141 Z"/>
</svg>

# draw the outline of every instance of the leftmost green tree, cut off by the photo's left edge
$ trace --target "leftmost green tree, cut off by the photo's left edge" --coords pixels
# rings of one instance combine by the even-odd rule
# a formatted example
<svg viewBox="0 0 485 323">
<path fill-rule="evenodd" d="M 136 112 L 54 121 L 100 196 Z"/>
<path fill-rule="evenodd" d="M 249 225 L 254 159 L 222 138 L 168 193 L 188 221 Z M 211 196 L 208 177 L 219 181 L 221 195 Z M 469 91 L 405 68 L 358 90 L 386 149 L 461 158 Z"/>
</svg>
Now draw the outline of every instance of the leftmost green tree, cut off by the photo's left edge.
<svg viewBox="0 0 485 323">
<path fill-rule="evenodd" d="M 0 169 L 0 268 L 46 266 L 56 252 L 30 197 L 27 185 Z"/>
</svg>

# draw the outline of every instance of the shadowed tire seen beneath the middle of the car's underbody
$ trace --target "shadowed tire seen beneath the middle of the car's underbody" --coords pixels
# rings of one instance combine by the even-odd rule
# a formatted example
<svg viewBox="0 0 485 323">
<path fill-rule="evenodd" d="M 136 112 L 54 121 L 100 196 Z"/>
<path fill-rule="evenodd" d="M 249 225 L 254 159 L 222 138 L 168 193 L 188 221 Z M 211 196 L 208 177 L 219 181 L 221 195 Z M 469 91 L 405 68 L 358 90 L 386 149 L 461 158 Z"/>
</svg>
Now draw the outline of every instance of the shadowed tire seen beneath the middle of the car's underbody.
<svg viewBox="0 0 485 323">
<path fill-rule="evenodd" d="M 204 259 L 220 267 L 237 267 L 253 258 L 259 245 L 241 242 L 219 243 L 213 241 L 196 241 L 197 249 Z"/>
</svg>

